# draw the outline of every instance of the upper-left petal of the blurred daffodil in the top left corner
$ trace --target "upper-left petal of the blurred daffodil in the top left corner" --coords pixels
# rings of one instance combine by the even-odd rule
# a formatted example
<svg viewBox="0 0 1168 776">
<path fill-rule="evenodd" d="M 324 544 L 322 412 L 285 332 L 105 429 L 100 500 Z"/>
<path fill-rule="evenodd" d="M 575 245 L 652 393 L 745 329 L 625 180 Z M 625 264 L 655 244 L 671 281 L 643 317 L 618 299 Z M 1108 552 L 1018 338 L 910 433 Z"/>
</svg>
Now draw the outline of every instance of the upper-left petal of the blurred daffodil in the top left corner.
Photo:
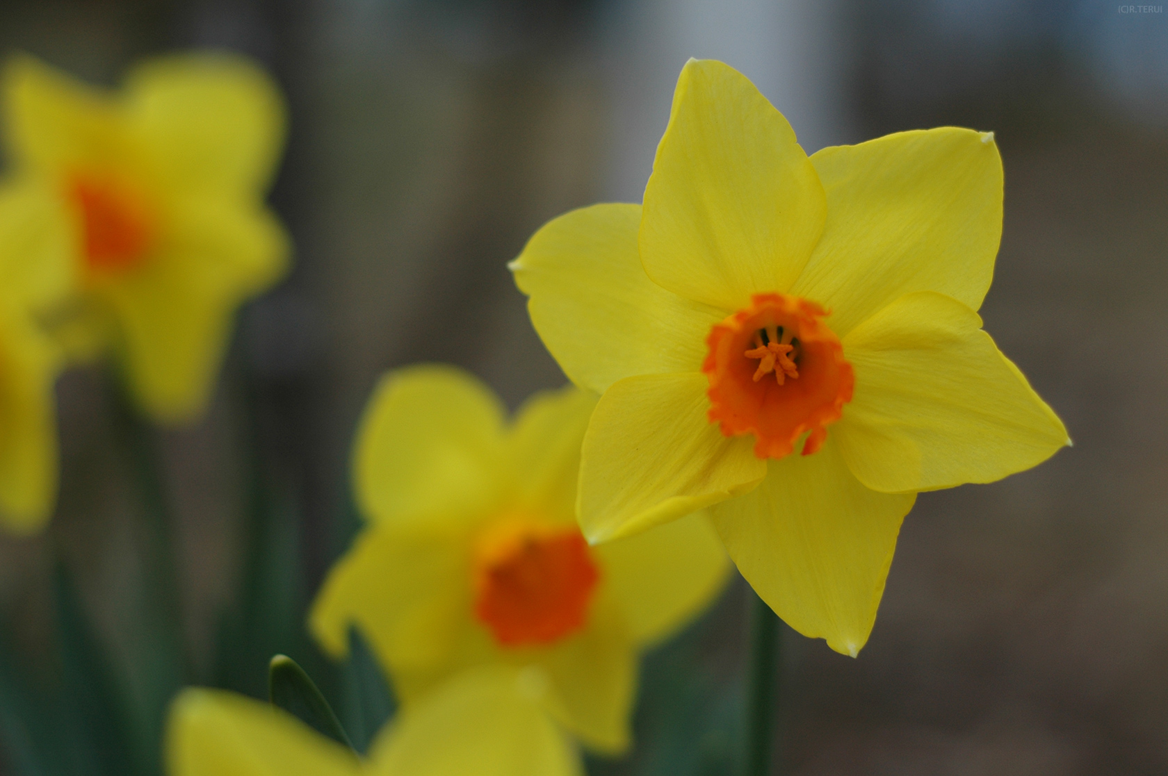
<svg viewBox="0 0 1168 776">
<path fill-rule="evenodd" d="M 117 103 L 30 56 L 4 69 L 5 139 L 18 168 L 58 175 L 135 159 Z M 138 160 L 140 161 L 140 159 Z"/>
</svg>

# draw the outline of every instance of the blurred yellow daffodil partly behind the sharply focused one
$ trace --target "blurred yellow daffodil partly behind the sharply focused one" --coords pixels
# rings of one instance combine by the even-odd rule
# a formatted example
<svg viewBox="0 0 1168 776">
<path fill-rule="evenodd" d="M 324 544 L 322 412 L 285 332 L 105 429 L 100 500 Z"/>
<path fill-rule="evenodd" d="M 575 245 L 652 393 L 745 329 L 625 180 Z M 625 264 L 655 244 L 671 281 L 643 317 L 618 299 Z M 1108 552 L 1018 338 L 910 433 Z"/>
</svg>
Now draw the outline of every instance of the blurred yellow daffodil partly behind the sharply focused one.
<svg viewBox="0 0 1168 776">
<path fill-rule="evenodd" d="M 356 442 L 368 526 L 311 613 L 324 648 L 343 655 L 359 627 L 406 705 L 496 666 L 584 744 L 625 749 L 638 651 L 705 607 L 729 562 L 704 515 L 588 546 L 573 506 L 595 405 L 543 393 L 508 422 L 458 370 L 390 373 Z"/>
</svg>

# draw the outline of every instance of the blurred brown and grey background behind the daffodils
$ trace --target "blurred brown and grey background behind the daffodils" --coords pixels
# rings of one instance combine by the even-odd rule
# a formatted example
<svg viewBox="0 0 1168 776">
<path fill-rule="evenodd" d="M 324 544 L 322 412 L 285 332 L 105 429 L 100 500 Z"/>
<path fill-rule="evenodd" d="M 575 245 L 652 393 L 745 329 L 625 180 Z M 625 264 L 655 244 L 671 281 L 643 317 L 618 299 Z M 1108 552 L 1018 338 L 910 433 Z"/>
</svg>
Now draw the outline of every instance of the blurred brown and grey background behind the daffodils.
<svg viewBox="0 0 1168 776">
<path fill-rule="evenodd" d="M 190 47 L 249 54 L 286 92 L 271 200 L 296 268 L 241 313 L 208 417 L 138 440 L 158 470 L 124 443 L 99 369 L 61 379 L 57 515 L 43 537 L 0 539 L 0 772 L 30 772 L 53 730 L 51 772 L 121 772 L 112 728 L 148 751 L 178 684 L 263 697 L 277 651 L 368 737 L 388 699 L 303 628 L 359 524 L 347 468 L 363 403 L 417 361 L 461 364 L 512 407 L 564 382 L 505 265 L 564 210 L 640 201 L 690 56 L 751 77 L 808 153 L 994 131 L 1006 216 L 982 315 L 1075 439 L 1035 470 L 920 496 L 857 659 L 784 634 L 786 771 L 1168 771 L 1163 6 L 0 4 L 0 50 L 95 83 Z M 167 540 L 173 561 L 151 552 Z M 158 583 L 167 571 L 179 589 Z M 731 586 L 648 656 L 639 747 L 596 774 L 729 772 L 746 593 Z"/>
</svg>

